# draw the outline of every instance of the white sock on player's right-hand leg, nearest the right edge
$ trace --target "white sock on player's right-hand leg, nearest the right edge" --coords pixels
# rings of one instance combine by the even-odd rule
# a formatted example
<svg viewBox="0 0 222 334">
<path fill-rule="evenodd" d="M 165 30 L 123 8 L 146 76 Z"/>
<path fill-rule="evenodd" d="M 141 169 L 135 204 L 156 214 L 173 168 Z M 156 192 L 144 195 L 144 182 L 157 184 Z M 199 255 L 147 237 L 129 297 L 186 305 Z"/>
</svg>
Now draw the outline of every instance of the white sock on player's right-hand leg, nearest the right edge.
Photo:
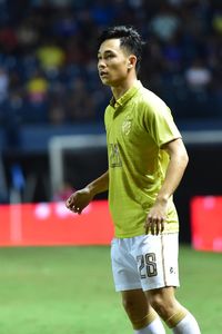
<svg viewBox="0 0 222 334">
<path fill-rule="evenodd" d="M 172 331 L 174 334 L 201 334 L 198 322 L 191 313 L 188 313 Z"/>
</svg>

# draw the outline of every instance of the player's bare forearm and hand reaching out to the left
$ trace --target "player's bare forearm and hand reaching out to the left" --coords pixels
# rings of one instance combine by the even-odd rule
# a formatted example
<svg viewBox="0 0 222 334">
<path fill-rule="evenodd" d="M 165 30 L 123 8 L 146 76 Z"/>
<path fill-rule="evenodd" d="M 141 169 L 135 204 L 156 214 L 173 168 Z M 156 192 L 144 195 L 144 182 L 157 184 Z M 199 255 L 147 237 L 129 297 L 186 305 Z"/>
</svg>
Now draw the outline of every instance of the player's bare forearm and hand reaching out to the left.
<svg viewBox="0 0 222 334">
<path fill-rule="evenodd" d="M 109 188 L 109 171 L 107 170 L 99 178 L 87 185 L 84 188 L 73 193 L 67 199 L 67 207 L 73 212 L 81 214 L 83 208 L 89 205 L 97 194 L 103 193 Z"/>
</svg>

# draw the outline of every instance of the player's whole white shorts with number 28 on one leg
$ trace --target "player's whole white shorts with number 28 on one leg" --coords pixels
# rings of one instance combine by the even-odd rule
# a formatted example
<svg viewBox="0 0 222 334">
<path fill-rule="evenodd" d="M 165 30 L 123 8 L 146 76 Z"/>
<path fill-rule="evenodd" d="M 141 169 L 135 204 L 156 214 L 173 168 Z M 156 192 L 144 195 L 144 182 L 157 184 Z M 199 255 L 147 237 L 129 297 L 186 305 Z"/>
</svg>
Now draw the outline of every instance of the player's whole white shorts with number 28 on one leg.
<svg viewBox="0 0 222 334">
<path fill-rule="evenodd" d="M 178 233 L 113 238 L 111 261 L 115 291 L 179 286 Z"/>
</svg>

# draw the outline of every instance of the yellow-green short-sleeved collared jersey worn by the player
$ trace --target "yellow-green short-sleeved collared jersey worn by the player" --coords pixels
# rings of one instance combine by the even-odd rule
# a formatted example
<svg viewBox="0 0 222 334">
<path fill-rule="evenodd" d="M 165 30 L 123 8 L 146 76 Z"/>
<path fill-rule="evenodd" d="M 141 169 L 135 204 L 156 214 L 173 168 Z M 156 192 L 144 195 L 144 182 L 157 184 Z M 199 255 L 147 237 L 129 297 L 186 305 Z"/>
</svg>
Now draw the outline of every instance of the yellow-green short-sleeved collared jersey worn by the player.
<svg viewBox="0 0 222 334">
<path fill-rule="evenodd" d="M 144 234 L 144 222 L 169 164 L 162 145 L 180 138 L 169 107 L 138 80 L 105 109 L 109 158 L 109 207 L 115 236 Z M 170 198 L 164 233 L 179 230 Z"/>
</svg>

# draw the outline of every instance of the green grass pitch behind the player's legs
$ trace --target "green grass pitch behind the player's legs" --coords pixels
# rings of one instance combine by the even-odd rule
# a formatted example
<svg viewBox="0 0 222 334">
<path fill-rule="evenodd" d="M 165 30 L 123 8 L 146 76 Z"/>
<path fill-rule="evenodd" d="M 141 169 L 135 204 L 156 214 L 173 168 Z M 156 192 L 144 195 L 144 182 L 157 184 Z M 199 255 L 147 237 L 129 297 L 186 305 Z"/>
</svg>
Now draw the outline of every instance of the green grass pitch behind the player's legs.
<svg viewBox="0 0 222 334">
<path fill-rule="evenodd" d="M 128 334 L 109 247 L 0 248 L 1 334 Z M 222 254 L 180 250 L 178 298 L 222 333 Z M 170 333 L 169 331 L 167 333 Z"/>
</svg>

